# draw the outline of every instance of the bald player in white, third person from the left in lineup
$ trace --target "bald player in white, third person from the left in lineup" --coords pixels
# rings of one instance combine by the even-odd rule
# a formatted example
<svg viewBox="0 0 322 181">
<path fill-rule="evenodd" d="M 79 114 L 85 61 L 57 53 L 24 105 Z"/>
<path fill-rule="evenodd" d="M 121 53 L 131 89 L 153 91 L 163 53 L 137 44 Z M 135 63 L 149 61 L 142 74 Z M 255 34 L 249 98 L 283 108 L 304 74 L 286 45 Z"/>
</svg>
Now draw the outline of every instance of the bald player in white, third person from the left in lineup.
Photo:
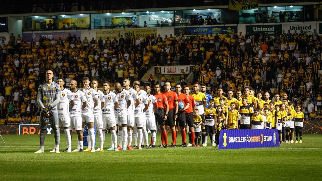
<svg viewBox="0 0 322 181">
<path fill-rule="evenodd" d="M 69 83 L 69 88 L 71 93 L 74 97 L 74 106 L 70 110 L 70 120 L 71 120 L 71 127 L 70 133 L 75 128 L 77 132 L 77 148 L 72 150 L 72 152 L 82 152 L 83 151 L 83 131 L 81 129 L 82 119 L 81 119 L 81 111 L 87 106 L 85 94 L 77 90 L 77 82 L 76 80 L 71 80 Z"/>
</svg>

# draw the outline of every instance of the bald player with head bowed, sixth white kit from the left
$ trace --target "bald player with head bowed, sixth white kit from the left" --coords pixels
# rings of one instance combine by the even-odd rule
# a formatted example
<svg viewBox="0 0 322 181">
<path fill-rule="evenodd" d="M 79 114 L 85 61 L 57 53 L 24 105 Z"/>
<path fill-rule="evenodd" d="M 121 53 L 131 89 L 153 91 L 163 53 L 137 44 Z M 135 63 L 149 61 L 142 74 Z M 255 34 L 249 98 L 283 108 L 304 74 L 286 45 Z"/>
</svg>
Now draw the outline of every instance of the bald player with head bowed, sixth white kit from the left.
<svg viewBox="0 0 322 181">
<path fill-rule="evenodd" d="M 121 84 L 118 82 L 115 83 L 115 90 L 113 91 L 113 93 L 116 95 L 118 99 L 118 108 L 116 108 L 116 110 L 114 111 L 116 126 L 118 126 L 119 129 L 118 139 L 120 138 L 120 135 L 123 136 L 121 137 L 123 140 L 123 146 L 121 140 L 119 140 L 119 145 L 121 146 L 118 145 L 117 149 L 126 150 L 128 133 L 127 131 L 123 131 L 123 133 L 121 133 L 120 129 L 127 130 L 127 109 L 131 105 L 131 98 L 129 96 L 128 91 L 122 89 Z"/>
</svg>

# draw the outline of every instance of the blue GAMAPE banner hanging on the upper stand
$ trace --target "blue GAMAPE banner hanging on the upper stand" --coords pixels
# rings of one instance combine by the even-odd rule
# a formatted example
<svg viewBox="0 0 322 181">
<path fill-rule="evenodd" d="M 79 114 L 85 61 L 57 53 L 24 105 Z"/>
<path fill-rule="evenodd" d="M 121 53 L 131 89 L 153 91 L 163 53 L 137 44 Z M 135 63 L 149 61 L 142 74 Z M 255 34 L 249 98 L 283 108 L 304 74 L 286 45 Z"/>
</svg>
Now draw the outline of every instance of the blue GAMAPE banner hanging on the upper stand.
<svg viewBox="0 0 322 181">
<path fill-rule="evenodd" d="M 206 27 L 181 27 L 175 28 L 175 35 L 191 36 L 195 34 L 233 34 L 237 32 L 237 26 L 206 26 Z"/>
</svg>

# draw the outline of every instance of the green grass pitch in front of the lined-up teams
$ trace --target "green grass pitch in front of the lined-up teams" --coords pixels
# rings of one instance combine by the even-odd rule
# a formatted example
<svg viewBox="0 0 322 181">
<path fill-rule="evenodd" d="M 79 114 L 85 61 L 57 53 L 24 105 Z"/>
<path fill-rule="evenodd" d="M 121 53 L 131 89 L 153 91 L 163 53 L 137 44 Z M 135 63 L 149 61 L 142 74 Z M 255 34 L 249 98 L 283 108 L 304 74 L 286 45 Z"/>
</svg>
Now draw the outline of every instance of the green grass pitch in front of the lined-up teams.
<svg viewBox="0 0 322 181">
<path fill-rule="evenodd" d="M 64 153 L 66 141 L 62 134 L 60 154 L 49 153 L 54 146 L 53 135 L 46 137 L 44 154 L 33 153 L 39 149 L 38 135 L 2 136 L 7 145 L 0 140 L 1 180 L 319 180 L 322 177 L 322 135 L 304 134 L 301 144 L 275 148 L 177 147 Z M 74 149 L 76 134 L 72 136 Z M 160 143 L 159 134 L 157 138 Z M 171 134 L 168 138 L 171 140 Z M 110 134 L 106 134 L 106 148 L 109 140 Z"/>
</svg>

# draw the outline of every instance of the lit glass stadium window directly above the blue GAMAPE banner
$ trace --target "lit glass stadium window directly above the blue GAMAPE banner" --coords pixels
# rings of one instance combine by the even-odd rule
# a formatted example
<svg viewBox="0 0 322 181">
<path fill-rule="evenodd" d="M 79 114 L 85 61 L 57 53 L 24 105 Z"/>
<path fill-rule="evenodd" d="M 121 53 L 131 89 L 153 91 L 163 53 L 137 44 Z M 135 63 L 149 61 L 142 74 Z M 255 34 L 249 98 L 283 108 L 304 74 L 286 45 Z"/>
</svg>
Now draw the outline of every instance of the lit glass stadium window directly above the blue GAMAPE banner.
<svg viewBox="0 0 322 181">
<path fill-rule="evenodd" d="M 211 19 L 211 20 L 210 20 Z M 175 25 L 210 25 L 221 22 L 220 9 L 194 9 L 175 11 Z"/>
</svg>

